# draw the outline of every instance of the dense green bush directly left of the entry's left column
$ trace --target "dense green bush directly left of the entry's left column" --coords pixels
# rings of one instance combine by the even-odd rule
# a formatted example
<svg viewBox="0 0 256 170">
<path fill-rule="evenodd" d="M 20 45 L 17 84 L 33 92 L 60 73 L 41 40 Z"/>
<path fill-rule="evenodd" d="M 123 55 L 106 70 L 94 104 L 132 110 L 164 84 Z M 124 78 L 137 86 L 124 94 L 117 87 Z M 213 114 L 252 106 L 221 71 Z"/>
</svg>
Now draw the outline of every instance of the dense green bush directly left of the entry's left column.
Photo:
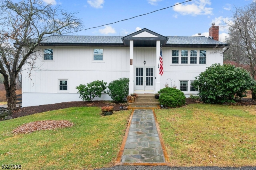
<svg viewBox="0 0 256 170">
<path fill-rule="evenodd" d="M 119 78 L 108 84 L 108 95 L 116 102 L 124 102 L 129 93 L 129 78 Z"/>
</svg>

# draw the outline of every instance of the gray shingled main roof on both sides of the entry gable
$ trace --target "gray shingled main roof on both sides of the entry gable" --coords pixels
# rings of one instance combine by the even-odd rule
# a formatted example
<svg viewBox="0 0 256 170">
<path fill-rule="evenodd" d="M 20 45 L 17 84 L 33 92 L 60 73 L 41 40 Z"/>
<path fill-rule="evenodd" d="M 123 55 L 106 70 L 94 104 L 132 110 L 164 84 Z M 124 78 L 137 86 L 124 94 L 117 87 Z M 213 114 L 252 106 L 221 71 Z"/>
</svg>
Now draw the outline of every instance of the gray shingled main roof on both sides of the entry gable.
<svg viewBox="0 0 256 170">
<path fill-rule="evenodd" d="M 124 36 L 67 36 L 55 35 L 45 37 L 41 43 L 92 43 L 92 44 L 123 44 L 121 38 Z M 210 38 L 200 37 L 168 37 L 168 44 L 225 44 Z"/>
</svg>

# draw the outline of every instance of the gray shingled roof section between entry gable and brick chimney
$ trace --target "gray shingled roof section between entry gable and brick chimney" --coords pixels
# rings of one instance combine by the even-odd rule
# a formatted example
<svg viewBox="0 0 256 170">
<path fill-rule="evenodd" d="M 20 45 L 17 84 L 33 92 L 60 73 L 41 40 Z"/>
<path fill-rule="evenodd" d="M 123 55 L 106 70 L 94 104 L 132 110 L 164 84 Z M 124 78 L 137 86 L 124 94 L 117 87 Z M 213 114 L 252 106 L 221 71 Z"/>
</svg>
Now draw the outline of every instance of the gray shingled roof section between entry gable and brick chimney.
<svg viewBox="0 0 256 170">
<path fill-rule="evenodd" d="M 220 41 L 212 40 L 210 38 L 200 37 L 168 37 L 166 44 L 225 44 Z"/>
</svg>

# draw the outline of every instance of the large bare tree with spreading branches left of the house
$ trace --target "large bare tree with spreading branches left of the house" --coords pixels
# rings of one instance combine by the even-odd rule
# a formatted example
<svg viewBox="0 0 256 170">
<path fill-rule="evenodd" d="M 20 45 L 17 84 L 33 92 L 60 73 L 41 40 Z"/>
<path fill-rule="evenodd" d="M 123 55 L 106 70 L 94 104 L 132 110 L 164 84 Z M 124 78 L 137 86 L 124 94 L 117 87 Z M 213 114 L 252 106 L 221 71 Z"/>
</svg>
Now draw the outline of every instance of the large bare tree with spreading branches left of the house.
<svg viewBox="0 0 256 170">
<path fill-rule="evenodd" d="M 82 22 L 76 12 L 41 0 L 2 0 L 0 3 L 0 73 L 8 108 L 16 109 L 16 78 L 26 65 L 33 69 L 37 46 L 49 35 L 78 31 Z"/>
</svg>

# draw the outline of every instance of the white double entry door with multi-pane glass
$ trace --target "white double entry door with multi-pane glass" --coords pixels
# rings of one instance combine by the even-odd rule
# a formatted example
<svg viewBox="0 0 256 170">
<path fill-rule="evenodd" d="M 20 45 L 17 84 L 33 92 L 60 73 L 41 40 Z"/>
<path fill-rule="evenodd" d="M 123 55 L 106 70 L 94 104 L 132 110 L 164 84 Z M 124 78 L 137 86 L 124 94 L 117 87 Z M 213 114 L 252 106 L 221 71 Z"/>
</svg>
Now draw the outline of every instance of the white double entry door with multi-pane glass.
<svg viewBox="0 0 256 170">
<path fill-rule="evenodd" d="M 154 66 L 135 66 L 134 91 L 155 91 L 154 72 Z"/>
</svg>

